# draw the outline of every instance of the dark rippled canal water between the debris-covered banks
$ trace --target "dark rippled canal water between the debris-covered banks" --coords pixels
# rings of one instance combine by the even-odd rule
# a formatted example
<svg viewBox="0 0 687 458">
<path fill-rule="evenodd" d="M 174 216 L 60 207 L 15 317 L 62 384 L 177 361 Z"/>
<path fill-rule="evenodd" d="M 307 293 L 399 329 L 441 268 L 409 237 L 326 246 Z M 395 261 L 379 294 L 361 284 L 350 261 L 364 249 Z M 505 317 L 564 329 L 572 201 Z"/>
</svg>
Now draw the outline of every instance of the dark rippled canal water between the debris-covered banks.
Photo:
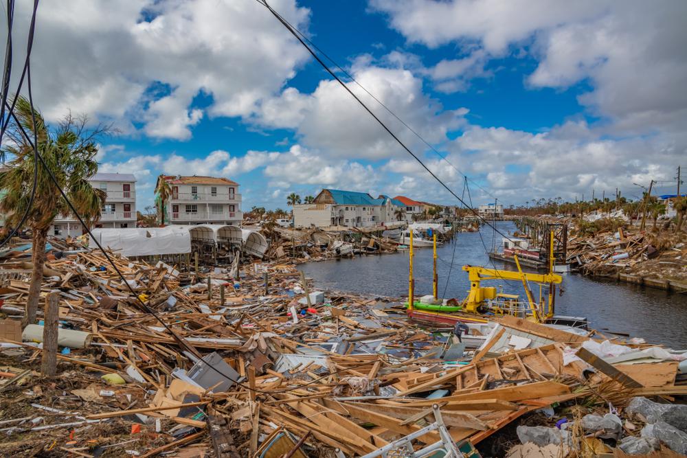
<svg viewBox="0 0 687 458">
<path fill-rule="evenodd" d="M 500 221 L 496 225 L 502 233 L 515 231 L 512 222 Z M 466 296 L 469 282 L 467 273 L 462 270 L 464 264 L 516 270 L 514 265 L 492 262 L 486 255 L 486 249 L 491 250 L 492 244 L 500 244 L 501 239 L 502 236 L 495 234 L 491 227 L 482 226 L 479 233 L 459 233 L 453 242 L 438 247 L 439 297 L 462 299 Z M 321 289 L 391 297 L 407 297 L 408 293 L 407 251 L 308 262 L 298 268 L 313 278 L 315 286 Z M 431 294 L 431 249 L 415 250 L 414 273 L 416 295 Z M 556 297 L 556 314 L 586 317 L 590 328 L 604 334 L 630 334 L 651 343 L 687 350 L 687 294 L 570 273 L 562 275 L 564 293 Z M 524 297 L 519 281 L 495 280 L 482 285 L 502 286 L 504 293 Z M 539 288 L 534 284 L 530 288 L 537 297 Z"/>
</svg>

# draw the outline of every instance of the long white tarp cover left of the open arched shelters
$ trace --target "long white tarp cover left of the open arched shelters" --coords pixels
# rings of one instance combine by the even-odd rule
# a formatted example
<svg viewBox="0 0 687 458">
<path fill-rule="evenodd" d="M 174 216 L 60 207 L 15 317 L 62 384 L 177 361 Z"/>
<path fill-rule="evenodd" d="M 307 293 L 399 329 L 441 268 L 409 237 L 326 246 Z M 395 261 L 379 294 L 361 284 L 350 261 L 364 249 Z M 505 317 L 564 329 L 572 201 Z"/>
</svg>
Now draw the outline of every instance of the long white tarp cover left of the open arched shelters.
<svg viewBox="0 0 687 458">
<path fill-rule="evenodd" d="M 188 229 L 168 227 L 129 227 L 122 229 L 93 229 L 91 231 L 103 248 L 125 256 L 171 255 L 191 252 Z M 98 248 L 93 240 L 89 247 Z"/>
</svg>

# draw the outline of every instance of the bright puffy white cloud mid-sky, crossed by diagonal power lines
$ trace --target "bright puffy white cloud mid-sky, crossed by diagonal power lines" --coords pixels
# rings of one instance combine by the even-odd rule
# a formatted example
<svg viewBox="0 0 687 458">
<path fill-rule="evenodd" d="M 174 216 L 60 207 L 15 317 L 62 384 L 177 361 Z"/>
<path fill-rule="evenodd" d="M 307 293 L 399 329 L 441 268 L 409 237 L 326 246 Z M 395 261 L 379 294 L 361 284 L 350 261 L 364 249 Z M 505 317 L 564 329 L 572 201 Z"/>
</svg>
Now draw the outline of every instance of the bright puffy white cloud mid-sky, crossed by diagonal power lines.
<svg viewBox="0 0 687 458">
<path fill-rule="evenodd" d="M 356 62 L 356 80 L 427 141 L 446 141 L 446 134 L 464 124 L 466 109 L 444 110 L 423 92 L 423 81 L 407 69 Z M 421 142 L 354 83 L 348 87 L 412 149 Z M 265 101 L 256 122 L 276 128 L 293 128 L 300 143 L 335 158 L 382 159 L 403 154 L 401 146 L 377 124 L 365 109 L 333 80 L 323 80 L 311 94 L 286 89 L 278 98 Z"/>
</svg>

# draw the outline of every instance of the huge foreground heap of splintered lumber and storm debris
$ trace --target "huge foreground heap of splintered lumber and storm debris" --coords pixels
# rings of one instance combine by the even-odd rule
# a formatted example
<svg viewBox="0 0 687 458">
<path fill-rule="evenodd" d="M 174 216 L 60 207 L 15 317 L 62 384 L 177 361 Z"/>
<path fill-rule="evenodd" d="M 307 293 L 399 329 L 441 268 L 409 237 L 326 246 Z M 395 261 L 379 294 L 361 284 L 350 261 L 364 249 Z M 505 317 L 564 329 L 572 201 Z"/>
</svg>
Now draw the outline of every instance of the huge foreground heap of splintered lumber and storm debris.
<svg viewBox="0 0 687 458">
<path fill-rule="evenodd" d="M 367 236 L 370 244 L 375 240 L 383 246 Z M 12 253 L 0 259 L 1 271 L 10 273 L 2 277 L 0 300 L 3 314 L 14 322 L 23 316 L 30 270 L 23 251 Z M 49 256 L 41 295 L 56 298 L 63 329 L 89 333 L 90 345 L 55 355 L 54 383 L 69 380 L 76 394 L 65 397 L 59 394 L 67 392 L 63 389 L 42 404 L 53 406 L 57 400 L 63 410 L 51 411 L 55 415 L 41 426 L 25 423 L 19 411 L 23 417 L 18 413 L 19 426 L 12 426 L 10 435 L 59 431 L 59 414 L 71 415 L 69 422 L 78 424 L 80 434 L 93 431 L 96 440 L 108 436 L 109 427 L 148 418 L 142 428 L 155 429 L 154 443 L 150 434 L 102 445 L 113 447 L 115 455 L 138 450 L 150 457 L 184 448 L 189 455 L 212 450 L 225 458 L 305 458 L 330 449 L 356 456 L 422 430 L 433 422 L 433 404 L 453 440 L 477 444 L 554 402 L 612 399 L 613 405 L 622 405 L 636 394 L 687 392 L 677 383 L 675 361 L 611 365 L 589 356 L 581 345 L 592 333 L 503 317 L 480 334 L 493 331 L 481 349 L 446 361 L 442 355 L 453 339 L 450 333 L 438 339 L 407 321 L 405 311 L 390 300 L 345 294 L 315 299 L 317 292 L 292 264 L 244 264 L 234 278 L 231 266 L 181 272 L 157 260 L 111 256 L 124 281 L 95 251 Z M 304 291 L 313 297 L 306 299 Z M 39 317 L 44 318 L 51 317 Z M 0 324 L 0 339 L 14 344 L 3 351 L 21 358 L 19 367 L 0 368 L 9 374 L 0 375 L 1 396 L 27 391 L 27 380 L 34 383 L 32 396 L 41 396 L 36 393 L 47 388 L 20 364 L 51 349 L 19 342 L 12 323 Z M 526 345 L 514 350 L 510 336 Z M 632 351 L 644 347 L 629 346 Z M 568 361 L 575 352 L 578 358 Z M 83 387 L 76 389 L 78 383 Z M 87 401 L 76 403 L 77 396 Z M 14 416 L 5 419 L 13 422 Z M 440 439 L 429 431 L 416 444 Z M 8 451 L 0 444 L 0 454 L 12 455 Z"/>
</svg>

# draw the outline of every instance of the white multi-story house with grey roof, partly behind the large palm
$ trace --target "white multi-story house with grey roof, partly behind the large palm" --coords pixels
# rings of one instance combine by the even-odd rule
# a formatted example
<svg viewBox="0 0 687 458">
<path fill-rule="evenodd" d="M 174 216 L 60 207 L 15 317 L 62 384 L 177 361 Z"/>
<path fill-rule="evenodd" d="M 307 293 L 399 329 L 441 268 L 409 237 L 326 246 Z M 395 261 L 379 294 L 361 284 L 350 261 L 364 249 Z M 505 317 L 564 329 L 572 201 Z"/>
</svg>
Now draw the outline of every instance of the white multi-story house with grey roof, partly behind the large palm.
<svg viewBox="0 0 687 458">
<path fill-rule="evenodd" d="M 107 195 L 95 227 L 136 227 L 136 177 L 131 173 L 96 173 L 89 180 Z M 59 238 L 78 237 L 84 231 L 71 216 L 58 215 L 50 233 Z"/>
</svg>

